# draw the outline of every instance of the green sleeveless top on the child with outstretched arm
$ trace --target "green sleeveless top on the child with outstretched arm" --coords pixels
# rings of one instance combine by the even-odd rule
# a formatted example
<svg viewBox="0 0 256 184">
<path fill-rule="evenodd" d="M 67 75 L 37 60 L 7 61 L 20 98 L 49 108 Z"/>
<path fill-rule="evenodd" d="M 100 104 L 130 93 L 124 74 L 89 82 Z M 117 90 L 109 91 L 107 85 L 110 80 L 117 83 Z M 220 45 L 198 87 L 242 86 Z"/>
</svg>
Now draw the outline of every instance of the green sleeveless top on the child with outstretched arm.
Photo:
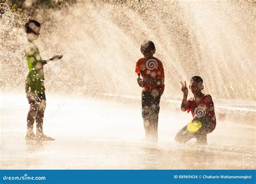
<svg viewBox="0 0 256 184">
<path fill-rule="evenodd" d="M 46 62 L 42 61 L 39 49 L 36 44 L 28 41 L 25 44 L 26 61 L 28 62 L 29 73 L 26 76 L 26 93 L 44 93 L 44 68 Z"/>
</svg>

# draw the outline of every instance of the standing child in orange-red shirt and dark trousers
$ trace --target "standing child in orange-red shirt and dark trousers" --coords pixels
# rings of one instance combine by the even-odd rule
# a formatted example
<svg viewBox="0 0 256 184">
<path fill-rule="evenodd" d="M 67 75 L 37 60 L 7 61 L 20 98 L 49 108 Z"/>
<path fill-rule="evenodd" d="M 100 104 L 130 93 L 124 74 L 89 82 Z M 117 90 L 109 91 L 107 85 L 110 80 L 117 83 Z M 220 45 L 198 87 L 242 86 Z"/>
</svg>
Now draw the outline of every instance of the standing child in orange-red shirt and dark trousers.
<svg viewBox="0 0 256 184">
<path fill-rule="evenodd" d="M 164 67 L 162 62 L 153 57 L 156 47 L 152 41 L 144 41 L 140 47 L 144 55 L 136 63 L 135 72 L 142 90 L 142 117 L 144 121 L 145 139 L 158 140 L 158 114 L 160 97 L 164 93 Z"/>
</svg>

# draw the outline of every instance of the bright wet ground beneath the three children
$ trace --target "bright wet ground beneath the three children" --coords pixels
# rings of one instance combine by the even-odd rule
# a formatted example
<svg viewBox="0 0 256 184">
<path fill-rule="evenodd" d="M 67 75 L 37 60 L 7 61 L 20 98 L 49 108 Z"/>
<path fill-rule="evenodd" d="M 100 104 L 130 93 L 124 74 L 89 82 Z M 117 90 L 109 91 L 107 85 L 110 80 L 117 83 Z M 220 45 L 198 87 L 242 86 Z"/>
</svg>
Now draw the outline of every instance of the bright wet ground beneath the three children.
<svg viewBox="0 0 256 184">
<path fill-rule="evenodd" d="M 254 123 L 218 121 L 208 145 L 174 142 L 190 114 L 160 108 L 159 143 L 143 143 L 139 103 L 48 95 L 44 132 L 25 141 L 29 105 L 2 94 L 1 169 L 255 169 Z"/>
</svg>

